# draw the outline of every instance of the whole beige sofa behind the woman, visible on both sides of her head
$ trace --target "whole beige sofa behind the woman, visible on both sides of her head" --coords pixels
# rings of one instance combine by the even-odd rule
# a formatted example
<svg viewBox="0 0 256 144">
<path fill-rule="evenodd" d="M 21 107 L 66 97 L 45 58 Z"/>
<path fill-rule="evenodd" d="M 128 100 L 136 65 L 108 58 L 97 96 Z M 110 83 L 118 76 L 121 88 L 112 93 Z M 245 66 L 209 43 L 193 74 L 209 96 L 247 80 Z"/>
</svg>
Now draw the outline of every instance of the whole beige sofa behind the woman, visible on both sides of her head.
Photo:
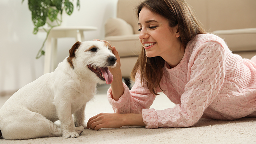
<svg viewBox="0 0 256 144">
<path fill-rule="evenodd" d="M 139 42 L 135 6 L 142 0 L 118 0 L 116 18 L 105 23 L 105 40 L 115 46 L 126 79 L 137 60 Z M 223 38 L 243 58 L 256 55 L 255 0 L 187 0 L 206 30 Z"/>
</svg>

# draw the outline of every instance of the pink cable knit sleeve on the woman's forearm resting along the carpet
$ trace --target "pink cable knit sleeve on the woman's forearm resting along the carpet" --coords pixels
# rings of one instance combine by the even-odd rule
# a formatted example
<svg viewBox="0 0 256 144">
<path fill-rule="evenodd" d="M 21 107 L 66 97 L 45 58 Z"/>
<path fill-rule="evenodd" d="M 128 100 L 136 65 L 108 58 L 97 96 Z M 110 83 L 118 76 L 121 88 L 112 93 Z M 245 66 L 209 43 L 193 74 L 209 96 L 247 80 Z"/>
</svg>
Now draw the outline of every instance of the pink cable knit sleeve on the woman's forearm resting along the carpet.
<svg viewBox="0 0 256 144">
<path fill-rule="evenodd" d="M 146 128 L 189 127 L 195 125 L 213 102 L 224 82 L 222 44 L 207 41 L 195 46 L 188 63 L 188 82 L 181 95 L 181 104 L 172 109 L 144 109 Z"/>
</svg>

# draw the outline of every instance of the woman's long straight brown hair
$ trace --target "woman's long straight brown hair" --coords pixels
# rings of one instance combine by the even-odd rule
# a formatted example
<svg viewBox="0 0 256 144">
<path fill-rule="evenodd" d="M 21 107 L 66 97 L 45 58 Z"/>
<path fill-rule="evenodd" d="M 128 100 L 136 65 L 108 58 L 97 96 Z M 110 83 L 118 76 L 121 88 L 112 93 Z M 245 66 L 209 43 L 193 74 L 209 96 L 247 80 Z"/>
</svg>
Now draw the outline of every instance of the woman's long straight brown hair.
<svg viewBox="0 0 256 144">
<path fill-rule="evenodd" d="M 136 7 L 137 17 L 143 7 L 147 7 L 153 13 L 162 15 L 169 21 L 170 27 L 178 24 L 181 44 L 186 46 L 197 34 L 207 33 L 198 23 L 193 12 L 185 0 L 145 0 Z M 165 60 L 161 57 L 148 58 L 145 49 L 142 47 L 139 58 L 133 67 L 131 79 L 135 80 L 137 71 L 140 71 L 141 82 L 147 85 L 150 92 L 157 94 L 160 88 L 160 80 L 163 76 Z M 162 90 L 162 89 L 161 89 Z"/>
</svg>

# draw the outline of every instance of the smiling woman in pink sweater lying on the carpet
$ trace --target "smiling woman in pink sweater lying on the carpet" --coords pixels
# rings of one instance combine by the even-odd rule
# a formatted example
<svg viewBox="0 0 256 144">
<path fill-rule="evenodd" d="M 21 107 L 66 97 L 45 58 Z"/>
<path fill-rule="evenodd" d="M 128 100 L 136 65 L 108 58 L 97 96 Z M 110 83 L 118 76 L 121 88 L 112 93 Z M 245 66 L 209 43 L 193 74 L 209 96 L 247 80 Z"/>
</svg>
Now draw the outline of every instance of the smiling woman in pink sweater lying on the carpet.
<svg viewBox="0 0 256 144">
<path fill-rule="evenodd" d="M 135 84 L 129 91 L 122 82 L 113 47 L 118 66 L 107 95 L 115 113 L 90 118 L 87 128 L 189 127 L 201 117 L 256 115 L 255 60 L 232 54 L 222 39 L 207 34 L 184 0 L 146 0 L 137 14 L 143 49 L 131 74 Z M 176 106 L 149 109 L 159 92 Z"/>
</svg>

